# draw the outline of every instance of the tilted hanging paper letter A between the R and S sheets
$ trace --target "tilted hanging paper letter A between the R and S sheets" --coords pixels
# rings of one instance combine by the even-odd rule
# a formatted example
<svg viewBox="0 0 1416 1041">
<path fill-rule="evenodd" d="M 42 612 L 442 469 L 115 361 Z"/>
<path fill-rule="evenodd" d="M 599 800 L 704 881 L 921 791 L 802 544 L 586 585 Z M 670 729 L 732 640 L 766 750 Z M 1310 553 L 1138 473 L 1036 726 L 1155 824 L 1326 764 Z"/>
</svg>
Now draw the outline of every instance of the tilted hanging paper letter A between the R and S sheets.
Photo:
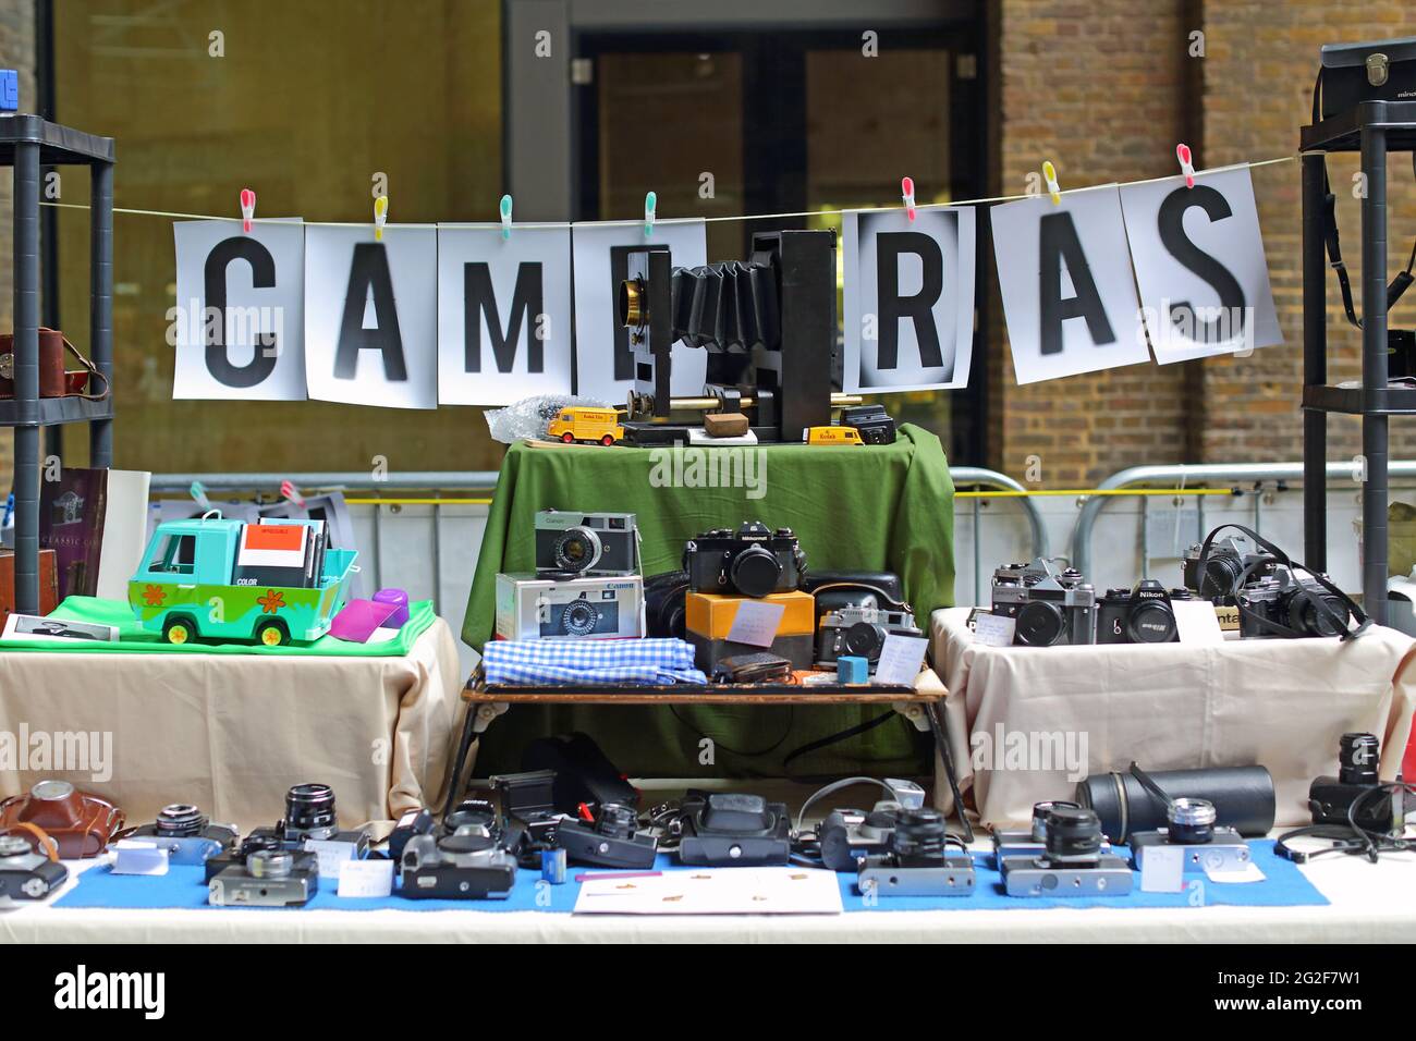
<svg viewBox="0 0 1416 1041">
<path fill-rule="evenodd" d="M 1150 361 L 1114 184 L 994 207 L 1008 344 L 1020 384 Z"/>
</svg>

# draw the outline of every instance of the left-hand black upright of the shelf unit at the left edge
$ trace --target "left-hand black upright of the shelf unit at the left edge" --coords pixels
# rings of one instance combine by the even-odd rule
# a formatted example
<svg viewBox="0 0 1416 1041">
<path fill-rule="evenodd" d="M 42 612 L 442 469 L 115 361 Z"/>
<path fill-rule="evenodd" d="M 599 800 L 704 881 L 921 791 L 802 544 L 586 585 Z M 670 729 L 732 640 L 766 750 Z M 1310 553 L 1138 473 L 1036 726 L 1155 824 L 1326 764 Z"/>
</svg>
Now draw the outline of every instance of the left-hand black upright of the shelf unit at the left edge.
<svg viewBox="0 0 1416 1041">
<path fill-rule="evenodd" d="M 14 606 L 40 613 L 40 146 L 14 146 Z"/>
</svg>

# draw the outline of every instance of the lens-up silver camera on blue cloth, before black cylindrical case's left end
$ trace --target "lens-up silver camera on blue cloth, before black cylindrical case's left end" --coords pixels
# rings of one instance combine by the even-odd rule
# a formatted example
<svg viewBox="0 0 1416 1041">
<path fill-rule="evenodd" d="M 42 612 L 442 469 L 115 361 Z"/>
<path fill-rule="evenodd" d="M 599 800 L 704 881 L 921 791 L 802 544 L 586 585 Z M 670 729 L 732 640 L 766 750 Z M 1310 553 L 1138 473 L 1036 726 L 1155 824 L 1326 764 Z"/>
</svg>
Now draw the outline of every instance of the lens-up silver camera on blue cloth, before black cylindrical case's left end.
<svg viewBox="0 0 1416 1041">
<path fill-rule="evenodd" d="M 1092 810 L 1055 806 L 1046 814 L 1041 855 L 1004 857 L 1000 864 L 1010 897 L 1124 897 L 1131 870 L 1102 853 L 1102 821 Z"/>
</svg>

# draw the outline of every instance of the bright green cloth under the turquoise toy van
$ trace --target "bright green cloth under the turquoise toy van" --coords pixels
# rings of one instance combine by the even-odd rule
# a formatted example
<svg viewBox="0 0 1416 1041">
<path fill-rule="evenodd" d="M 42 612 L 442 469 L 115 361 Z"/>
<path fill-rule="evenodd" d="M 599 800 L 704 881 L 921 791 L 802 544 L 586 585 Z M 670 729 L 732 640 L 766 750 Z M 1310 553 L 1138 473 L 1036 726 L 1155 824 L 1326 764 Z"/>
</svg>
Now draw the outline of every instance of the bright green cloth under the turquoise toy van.
<svg viewBox="0 0 1416 1041">
<path fill-rule="evenodd" d="M 314 643 L 266 647 L 259 643 L 167 643 L 160 633 L 146 632 L 137 625 L 133 609 L 123 601 L 102 601 L 96 596 L 68 596 L 64 603 L 50 612 L 50 618 L 65 622 L 92 622 L 93 625 L 118 626 L 118 642 L 103 640 L 6 640 L 0 653 L 10 650 L 42 650 L 44 653 L 67 652 L 76 654 L 120 654 L 142 652 L 146 654 L 272 654 L 287 657 L 405 657 L 413 642 L 433 623 L 438 615 L 432 601 L 408 605 L 408 622 L 398 636 L 382 643 L 350 643 L 333 636 L 321 636 Z"/>
</svg>

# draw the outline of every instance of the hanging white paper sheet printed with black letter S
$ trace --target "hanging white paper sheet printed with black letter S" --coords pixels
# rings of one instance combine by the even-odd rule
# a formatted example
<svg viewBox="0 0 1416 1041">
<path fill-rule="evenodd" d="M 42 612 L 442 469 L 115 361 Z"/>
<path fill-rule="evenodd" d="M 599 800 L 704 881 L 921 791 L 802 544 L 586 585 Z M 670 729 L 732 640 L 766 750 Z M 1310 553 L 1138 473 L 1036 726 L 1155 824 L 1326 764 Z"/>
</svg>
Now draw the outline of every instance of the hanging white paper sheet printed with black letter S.
<svg viewBox="0 0 1416 1041">
<path fill-rule="evenodd" d="M 1121 188 L 1155 361 L 1283 343 L 1247 167 Z"/>
</svg>

